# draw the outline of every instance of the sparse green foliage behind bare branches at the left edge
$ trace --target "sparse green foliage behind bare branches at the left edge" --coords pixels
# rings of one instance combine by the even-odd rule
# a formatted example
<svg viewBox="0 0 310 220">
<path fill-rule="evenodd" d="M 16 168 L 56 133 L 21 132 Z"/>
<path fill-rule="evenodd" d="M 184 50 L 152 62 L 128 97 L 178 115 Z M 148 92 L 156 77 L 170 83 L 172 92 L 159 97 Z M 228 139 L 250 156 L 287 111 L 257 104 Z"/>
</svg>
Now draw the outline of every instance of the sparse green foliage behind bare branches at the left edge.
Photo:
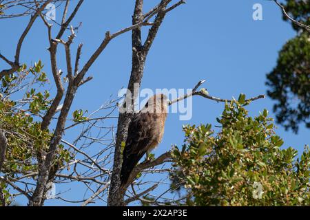
<svg viewBox="0 0 310 220">
<path fill-rule="evenodd" d="M 41 114 L 50 107 L 50 94 L 47 90 L 41 90 L 41 85 L 48 82 L 46 74 L 42 72 L 41 61 L 27 69 L 23 65 L 19 71 L 1 80 L 0 89 L 0 128 L 5 131 L 8 140 L 6 160 L 1 173 L 6 175 L 9 181 L 18 184 L 19 177 L 37 173 L 38 160 L 48 152 L 48 146 L 53 133 L 49 130 L 41 130 Z M 33 83 L 24 83 L 30 75 Z M 33 75 L 33 76 L 32 76 Z M 23 99 L 13 101 L 10 96 L 27 87 Z M 62 145 L 54 159 L 54 164 L 63 166 L 72 159 L 72 154 Z M 37 175 L 30 175 L 34 180 Z M 14 197 L 11 195 L 5 181 L 0 181 L 2 193 L 9 204 Z M 1 205 L 1 201 L 0 201 Z"/>
</svg>

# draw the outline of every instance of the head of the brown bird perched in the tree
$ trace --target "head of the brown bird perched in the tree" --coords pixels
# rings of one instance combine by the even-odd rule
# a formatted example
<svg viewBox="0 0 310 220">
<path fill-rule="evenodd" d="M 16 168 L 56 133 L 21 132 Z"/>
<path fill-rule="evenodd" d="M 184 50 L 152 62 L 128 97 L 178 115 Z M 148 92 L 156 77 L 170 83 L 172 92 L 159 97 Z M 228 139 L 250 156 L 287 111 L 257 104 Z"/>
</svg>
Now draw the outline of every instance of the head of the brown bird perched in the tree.
<svg viewBox="0 0 310 220">
<path fill-rule="evenodd" d="M 169 99 L 164 94 L 156 94 L 147 100 L 142 112 L 167 113 Z"/>
</svg>

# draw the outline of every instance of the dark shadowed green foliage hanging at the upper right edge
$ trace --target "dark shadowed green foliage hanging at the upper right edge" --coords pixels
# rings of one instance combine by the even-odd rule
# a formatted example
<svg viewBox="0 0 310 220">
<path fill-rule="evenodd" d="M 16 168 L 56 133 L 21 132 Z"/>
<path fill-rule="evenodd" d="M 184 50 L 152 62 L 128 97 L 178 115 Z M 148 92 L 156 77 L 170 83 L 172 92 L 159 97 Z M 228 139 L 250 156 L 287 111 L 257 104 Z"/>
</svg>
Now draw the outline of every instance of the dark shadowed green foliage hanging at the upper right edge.
<svg viewBox="0 0 310 220">
<path fill-rule="evenodd" d="M 310 1 L 287 0 L 285 10 L 289 15 L 310 25 Z M 283 15 L 287 21 L 287 17 Z M 267 94 L 276 104 L 273 111 L 285 129 L 298 132 L 301 122 L 310 128 L 310 34 L 292 23 L 299 34 L 288 41 L 279 52 L 276 67 L 267 74 Z"/>
</svg>

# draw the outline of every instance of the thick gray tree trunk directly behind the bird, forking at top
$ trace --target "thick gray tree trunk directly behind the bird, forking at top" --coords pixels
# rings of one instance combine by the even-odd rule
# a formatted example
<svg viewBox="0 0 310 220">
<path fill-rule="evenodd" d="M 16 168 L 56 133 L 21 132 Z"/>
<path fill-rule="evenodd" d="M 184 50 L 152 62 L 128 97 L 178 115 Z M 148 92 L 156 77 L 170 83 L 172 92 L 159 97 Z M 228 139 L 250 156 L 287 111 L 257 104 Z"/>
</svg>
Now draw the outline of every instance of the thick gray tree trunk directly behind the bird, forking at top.
<svg viewBox="0 0 310 220">
<path fill-rule="evenodd" d="M 140 87 L 141 80 L 143 78 L 143 72 L 145 67 L 145 60 L 147 58 L 147 54 L 149 52 L 152 43 L 156 37 L 156 34 L 165 19 L 165 14 L 171 10 L 170 8 L 166 10 L 167 4 L 171 2 L 171 0 L 162 0 L 159 5 L 154 8 L 153 12 L 156 12 L 156 19 L 152 28 L 149 29 L 149 33 L 147 35 L 147 39 L 144 44 L 141 43 L 141 28 L 137 28 L 132 30 L 132 72 L 130 75 L 130 80 L 128 83 L 127 89 L 133 94 L 132 102 L 126 103 L 134 103 L 136 100 L 136 91 L 134 91 L 134 85 L 138 85 Z M 180 1 L 183 3 L 183 1 Z M 178 3 L 178 5 L 180 4 Z M 152 14 L 151 13 L 151 14 Z M 134 8 L 134 15 L 132 17 L 132 24 L 141 23 L 147 14 L 143 14 L 143 0 L 136 0 L 136 5 Z M 138 89 L 135 87 L 135 89 Z M 126 97 L 126 99 L 129 99 Z M 133 108 L 133 106 L 131 107 Z M 107 200 L 108 206 L 124 206 L 124 195 L 127 188 L 120 188 L 120 173 L 121 166 L 123 162 L 123 155 L 121 155 L 121 144 L 122 142 L 126 142 L 127 139 L 127 130 L 128 126 L 132 120 L 132 113 L 120 113 L 118 118 L 118 129 L 116 133 L 116 146 L 114 150 L 114 166 L 111 177 L 111 186 L 109 191 L 109 197 Z"/>
</svg>

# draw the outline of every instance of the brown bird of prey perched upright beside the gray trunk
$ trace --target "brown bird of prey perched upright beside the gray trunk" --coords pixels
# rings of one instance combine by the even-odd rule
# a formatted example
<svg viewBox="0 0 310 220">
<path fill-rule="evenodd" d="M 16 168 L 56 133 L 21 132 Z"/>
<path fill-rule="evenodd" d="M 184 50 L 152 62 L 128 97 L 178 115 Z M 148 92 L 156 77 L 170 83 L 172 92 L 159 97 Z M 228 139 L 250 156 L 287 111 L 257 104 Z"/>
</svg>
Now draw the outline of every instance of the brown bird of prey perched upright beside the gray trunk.
<svg viewBox="0 0 310 220">
<path fill-rule="evenodd" d="M 130 122 L 123 151 L 121 186 L 127 184 L 134 166 L 143 155 L 148 155 L 163 139 L 168 101 L 163 94 L 152 96 Z"/>
</svg>

